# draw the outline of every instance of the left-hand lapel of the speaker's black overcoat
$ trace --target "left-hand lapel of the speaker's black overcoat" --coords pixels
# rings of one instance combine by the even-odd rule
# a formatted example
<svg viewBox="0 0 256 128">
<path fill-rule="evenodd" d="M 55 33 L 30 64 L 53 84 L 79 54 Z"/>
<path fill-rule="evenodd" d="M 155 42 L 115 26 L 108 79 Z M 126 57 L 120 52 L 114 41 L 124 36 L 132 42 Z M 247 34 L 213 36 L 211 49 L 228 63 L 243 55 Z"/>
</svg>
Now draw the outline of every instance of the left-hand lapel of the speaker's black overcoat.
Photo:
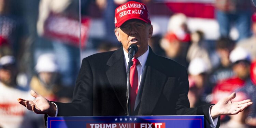
<svg viewBox="0 0 256 128">
<path fill-rule="evenodd" d="M 109 69 L 106 71 L 108 80 L 115 92 L 119 103 L 126 111 L 126 68 L 123 47 L 113 53 L 106 63 Z"/>
</svg>

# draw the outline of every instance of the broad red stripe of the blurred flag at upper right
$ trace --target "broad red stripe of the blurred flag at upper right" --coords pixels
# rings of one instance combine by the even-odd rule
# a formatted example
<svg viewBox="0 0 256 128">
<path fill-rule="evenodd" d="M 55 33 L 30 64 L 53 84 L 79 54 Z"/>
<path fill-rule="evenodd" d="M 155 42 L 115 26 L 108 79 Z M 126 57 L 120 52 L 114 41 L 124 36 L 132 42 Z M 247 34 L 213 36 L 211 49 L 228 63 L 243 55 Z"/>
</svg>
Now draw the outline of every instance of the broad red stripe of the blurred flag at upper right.
<svg viewBox="0 0 256 128">
<path fill-rule="evenodd" d="M 188 17 L 214 18 L 213 3 L 168 2 L 168 8 L 174 13 L 184 13 Z"/>
</svg>

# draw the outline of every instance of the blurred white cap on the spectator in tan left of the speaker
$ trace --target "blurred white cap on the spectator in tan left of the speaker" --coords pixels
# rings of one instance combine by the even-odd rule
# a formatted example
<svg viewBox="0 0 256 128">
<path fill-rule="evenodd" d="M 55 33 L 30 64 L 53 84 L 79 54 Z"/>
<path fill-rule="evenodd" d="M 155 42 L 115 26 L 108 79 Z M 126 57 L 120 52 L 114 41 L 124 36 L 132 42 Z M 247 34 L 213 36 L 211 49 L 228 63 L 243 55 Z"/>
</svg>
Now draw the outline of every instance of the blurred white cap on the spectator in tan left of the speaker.
<svg viewBox="0 0 256 128">
<path fill-rule="evenodd" d="M 39 72 L 57 72 L 58 65 L 54 54 L 47 53 L 39 56 L 35 70 Z"/>
</svg>

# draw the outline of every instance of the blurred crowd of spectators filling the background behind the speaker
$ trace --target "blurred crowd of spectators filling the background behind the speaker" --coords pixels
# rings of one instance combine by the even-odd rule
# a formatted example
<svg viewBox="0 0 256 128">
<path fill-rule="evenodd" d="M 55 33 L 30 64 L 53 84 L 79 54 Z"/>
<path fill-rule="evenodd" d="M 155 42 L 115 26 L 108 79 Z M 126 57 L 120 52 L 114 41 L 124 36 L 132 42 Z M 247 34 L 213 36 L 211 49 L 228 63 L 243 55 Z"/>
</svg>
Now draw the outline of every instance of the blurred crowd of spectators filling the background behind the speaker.
<svg viewBox="0 0 256 128">
<path fill-rule="evenodd" d="M 187 68 L 190 106 L 216 103 L 236 92 L 234 102 L 251 99 L 254 104 L 237 115 L 222 116 L 221 128 L 256 127 L 253 2 L 209 0 L 215 11 L 213 20 L 219 26 L 215 33 L 219 37 L 212 40 L 205 38 L 203 30 L 190 30 L 191 17 L 167 8 L 168 0 L 136 1 L 153 8 L 150 11 L 156 11 L 157 6 L 161 13 L 165 12 L 168 22 L 164 31 L 159 27 L 161 19 L 154 18 L 158 13 L 150 12 L 151 19 L 158 22 L 152 22 L 154 32 L 148 43 L 157 55 Z M 81 59 L 121 46 L 114 35 L 114 11 L 125 2 L 0 0 L 0 128 L 45 127 L 43 115 L 34 114 L 17 102 L 17 98 L 33 99 L 31 89 L 49 101 L 72 100 Z M 102 26 L 92 27 L 93 24 Z M 231 28 L 238 31 L 236 39 L 230 37 Z M 100 37 L 91 34 L 94 32 Z"/>
</svg>

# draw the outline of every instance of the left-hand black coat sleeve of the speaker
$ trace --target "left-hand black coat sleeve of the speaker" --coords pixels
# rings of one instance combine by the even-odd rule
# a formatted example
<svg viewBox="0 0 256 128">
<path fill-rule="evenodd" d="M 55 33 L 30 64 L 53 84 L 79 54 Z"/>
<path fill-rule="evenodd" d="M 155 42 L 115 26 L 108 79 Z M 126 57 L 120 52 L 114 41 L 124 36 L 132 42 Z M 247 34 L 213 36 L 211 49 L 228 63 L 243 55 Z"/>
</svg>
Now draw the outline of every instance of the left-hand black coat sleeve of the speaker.
<svg viewBox="0 0 256 128">
<path fill-rule="evenodd" d="M 84 58 L 76 80 L 71 103 L 54 102 L 58 106 L 57 116 L 93 115 L 93 73 L 87 58 Z"/>
</svg>

